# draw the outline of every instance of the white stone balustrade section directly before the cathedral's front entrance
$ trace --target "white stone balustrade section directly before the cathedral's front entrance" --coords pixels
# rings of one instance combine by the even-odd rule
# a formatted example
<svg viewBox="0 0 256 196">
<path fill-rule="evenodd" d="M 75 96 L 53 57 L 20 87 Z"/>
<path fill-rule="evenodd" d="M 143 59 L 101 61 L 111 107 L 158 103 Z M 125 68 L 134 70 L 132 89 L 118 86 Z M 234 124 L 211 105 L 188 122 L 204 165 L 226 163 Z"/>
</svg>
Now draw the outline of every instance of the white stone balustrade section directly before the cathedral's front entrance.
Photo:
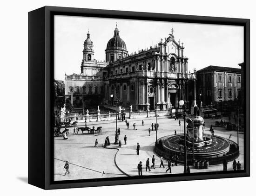
<svg viewBox="0 0 256 196">
<path fill-rule="evenodd" d="M 157 110 L 156 114 L 157 116 L 168 116 L 171 115 L 171 109 L 164 109 L 164 110 Z M 134 118 L 147 118 L 147 117 L 154 117 L 155 116 L 155 110 L 152 111 L 140 111 L 140 112 L 130 112 L 130 119 Z"/>
</svg>

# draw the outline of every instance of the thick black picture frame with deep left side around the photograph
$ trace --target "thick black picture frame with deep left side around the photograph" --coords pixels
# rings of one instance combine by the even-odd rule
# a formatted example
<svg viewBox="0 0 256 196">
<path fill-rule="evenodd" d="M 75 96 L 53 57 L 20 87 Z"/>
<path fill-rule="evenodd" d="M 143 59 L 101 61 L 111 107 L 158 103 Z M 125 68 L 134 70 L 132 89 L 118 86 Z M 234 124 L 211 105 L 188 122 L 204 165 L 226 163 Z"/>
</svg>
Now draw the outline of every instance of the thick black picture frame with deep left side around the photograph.
<svg viewBox="0 0 256 196">
<path fill-rule="evenodd" d="M 200 24 L 241 25 L 244 27 L 244 97 L 246 113 L 244 132 L 244 170 L 207 173 L 173 174 L 166 176 L 114 177 L 53 181 L 53 137 L 51 135 L 51 108 L 54 81 L 54 15 L 141 19 Z M 44 6 L 28 13 L 28 183 L 42 189 L 63 189 L 108 186 L 135 183 L 159 183 L 228 177 L 249 177 L 250 139 L 250 20 L 191 16 L 163 13 L 126 12 Z"/>
</svg>

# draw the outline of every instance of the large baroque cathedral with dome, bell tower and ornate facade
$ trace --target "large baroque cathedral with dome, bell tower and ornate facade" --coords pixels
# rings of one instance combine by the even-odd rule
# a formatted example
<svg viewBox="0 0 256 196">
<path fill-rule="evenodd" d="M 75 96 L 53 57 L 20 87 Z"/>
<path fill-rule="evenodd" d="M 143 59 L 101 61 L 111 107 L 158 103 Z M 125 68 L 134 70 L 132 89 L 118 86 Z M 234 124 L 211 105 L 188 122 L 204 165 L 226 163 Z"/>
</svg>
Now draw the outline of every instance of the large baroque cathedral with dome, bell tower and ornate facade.
<svg viewBox="0 0 256 196">
<path fill-rule="evenodd" d="M 105 62 L 94 59 L 88 32 L 81 74 L 65 75 L 65 100 L 73 104 L 72 96 L 81 101 L 84 95 L 101 95 L 105 104 L 118 101 L 138 110 L 178 108 L 180 100 L 187 108 L 195 105 L 195 74 L 188 71 L 188 57 L 173 29 L 154 47 L 128 54 L 116 26 L 105 52 Z"/>
</svg>

